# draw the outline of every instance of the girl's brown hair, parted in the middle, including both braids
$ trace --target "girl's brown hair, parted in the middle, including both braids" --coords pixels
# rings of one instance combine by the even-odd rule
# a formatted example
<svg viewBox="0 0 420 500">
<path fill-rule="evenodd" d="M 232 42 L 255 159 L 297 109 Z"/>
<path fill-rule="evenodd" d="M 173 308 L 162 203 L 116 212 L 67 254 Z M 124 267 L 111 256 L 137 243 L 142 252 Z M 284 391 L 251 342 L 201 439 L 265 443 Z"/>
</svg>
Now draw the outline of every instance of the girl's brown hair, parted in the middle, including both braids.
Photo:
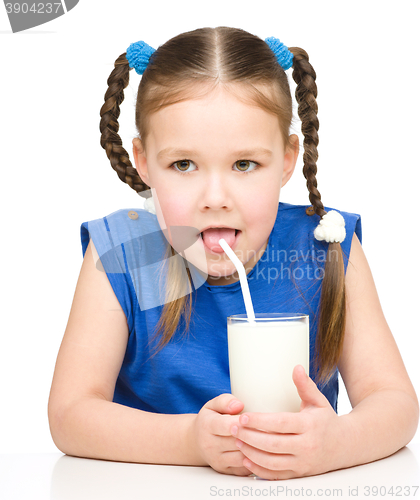
<svg viewBox="0 0 420 500">
<path fill-rule="evenodd" d="M 301 48 L 291 47 L 293 53 L 293 79 L 297 84 L 298 115 L 304 135 L 303 174 L 309 191 L 311 206 L 308 216 L 324 215 L 324 205 L 317 188 L 318 159 L 318 106 L 316 102 L 316 73 L 309 63 L 308 54 Z M 105 103 L 101 108 L 101 146 L 118 177 L 140 193 L 149 190 L 137 170 L 133 168 L 128 153 L 118 135 L 120 104 L 129 82 L 126 54 L 115 61 L 115 68 L 108 78 Z M 244 30 L 218 27 L 202 28 L 182 33 L 161 45 L 153 54 L 140 81 L 136 102 L 136 127 L 143 147 L 149 131 L 148 120 L 152 113 L 165 106 L 205 95 L 217 85 L 235 93 L 245 90 L 248 101 L 255 103 L 278 117 L 285 148 L 289 148 L 289 129 L 293 118 L 292 97 L 285 71 L 274 53 L 259 37 Z M 237 94 L 243 98 L 243 92 Z M 171 248 L 172 255 L 175 251 Z M 339 259 L 333 259 L 338 252 Z M 191 282 L 191 276 L 187 269 Z M 174 278 L 175 269 L 169 270 L 170 287 L 179 286 Z M 191 284 L 191 283 L 190 283 Z M 191 318 L 191 294 L 179 297 L 173 288 L 167 291 L 166 303 L 157 325 L 160 335 L 158 348 L 166 345 L 175 333 L 181 316 L 186 321 L 186 331 Z M 325 275 L 321 292 L 315 366 L 317 379 L 326 382 L 332 375 L 341 354 L 345 325 L 344 264 L 339 243 L 329 245 Z"/>
</svg>

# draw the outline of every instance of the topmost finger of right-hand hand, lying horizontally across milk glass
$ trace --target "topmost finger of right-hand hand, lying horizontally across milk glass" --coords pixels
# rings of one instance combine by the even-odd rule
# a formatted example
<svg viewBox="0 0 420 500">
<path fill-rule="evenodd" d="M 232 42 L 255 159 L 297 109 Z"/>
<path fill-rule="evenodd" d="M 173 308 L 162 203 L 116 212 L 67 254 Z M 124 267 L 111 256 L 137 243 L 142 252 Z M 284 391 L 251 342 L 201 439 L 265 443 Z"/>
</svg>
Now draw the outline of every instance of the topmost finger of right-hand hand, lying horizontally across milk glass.
<svg viewBox="0 0 420 500">
<path fill-rule="evenodd" d="M 244 413 L 239 423 L 265 432 L 301 434 L 305 432 L 305 420 L 300 413 Z"/>
</svg>

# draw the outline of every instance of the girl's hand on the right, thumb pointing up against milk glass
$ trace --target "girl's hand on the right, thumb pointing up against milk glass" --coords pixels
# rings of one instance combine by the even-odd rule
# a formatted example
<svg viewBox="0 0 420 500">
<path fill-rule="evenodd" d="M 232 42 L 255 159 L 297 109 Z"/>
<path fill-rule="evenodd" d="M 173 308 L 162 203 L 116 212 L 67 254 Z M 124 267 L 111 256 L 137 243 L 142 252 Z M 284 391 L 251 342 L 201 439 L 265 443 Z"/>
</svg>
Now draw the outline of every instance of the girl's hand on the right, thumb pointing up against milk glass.
<svg viewBox="0 0 420 500">
<path fill-rule="evenodd" d="M 244 413 L 233 425 L 243 465 L 264 479 L 288 479 L 337 469 L 340 417 L 302 366 L 293 370 L 299 413 Z"/>
</svg>

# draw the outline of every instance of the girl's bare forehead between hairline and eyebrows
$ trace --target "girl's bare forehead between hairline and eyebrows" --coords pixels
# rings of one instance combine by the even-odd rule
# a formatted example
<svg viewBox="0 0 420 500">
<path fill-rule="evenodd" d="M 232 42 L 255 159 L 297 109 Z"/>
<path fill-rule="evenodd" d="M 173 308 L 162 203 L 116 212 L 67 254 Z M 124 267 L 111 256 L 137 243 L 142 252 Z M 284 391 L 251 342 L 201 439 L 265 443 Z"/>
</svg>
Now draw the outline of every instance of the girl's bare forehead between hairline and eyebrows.
<svg viewBox="0 0 420 500">
<path fill-rule="evenodd" d="M 206 95 L 166 106 L 150 116 L 147 147 L 273 149 L 282 146 L 278 118 L 246 95 L 218 86 Z"/>
</svg>

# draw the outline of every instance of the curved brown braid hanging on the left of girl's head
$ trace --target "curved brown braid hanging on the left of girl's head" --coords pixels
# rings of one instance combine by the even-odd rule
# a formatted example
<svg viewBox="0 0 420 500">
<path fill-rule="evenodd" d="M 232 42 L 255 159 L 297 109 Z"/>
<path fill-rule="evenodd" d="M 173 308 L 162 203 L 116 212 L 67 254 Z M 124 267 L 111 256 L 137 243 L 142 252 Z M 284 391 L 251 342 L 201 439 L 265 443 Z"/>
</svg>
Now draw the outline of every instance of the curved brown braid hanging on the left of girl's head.
<svg viewBox="0 0 420 500">
<path fill-rule="evenodd" d="M 105 103 L 101 108 L 101 146 L 105 149 L 112 168 L 118 177 L 126 182 L 137 193 L 150 189 L 140 178 L 137 170 L 133 168 L 127 151 L 122 146 L 121 137 L 118 135 L 120 104 L 124 101 L 124 89 L 128 85 L 129 67 L 125 53 L 115 61 L 115 68 L 108 78 L 108 90 L 105 94 Z"/>
</svg>

